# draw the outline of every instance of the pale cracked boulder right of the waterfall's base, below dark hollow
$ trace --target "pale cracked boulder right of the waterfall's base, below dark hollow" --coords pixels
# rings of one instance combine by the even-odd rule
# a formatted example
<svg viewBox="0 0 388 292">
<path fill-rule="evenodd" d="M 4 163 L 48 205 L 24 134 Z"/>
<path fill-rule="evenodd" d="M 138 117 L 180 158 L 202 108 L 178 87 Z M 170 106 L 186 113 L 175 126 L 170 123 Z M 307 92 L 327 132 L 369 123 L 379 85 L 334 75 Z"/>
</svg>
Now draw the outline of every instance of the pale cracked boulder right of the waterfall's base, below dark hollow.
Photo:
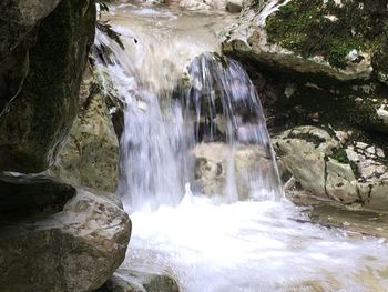
<svg viewBox="0 0 388 292">
<path fill-rule="evenodd" d="M 275 140 L 282 164 L 304 190 L 343 203 L 388 210 L 388 168 L 382 149 L 351 133 L 297 127 Z"/>
</svg>

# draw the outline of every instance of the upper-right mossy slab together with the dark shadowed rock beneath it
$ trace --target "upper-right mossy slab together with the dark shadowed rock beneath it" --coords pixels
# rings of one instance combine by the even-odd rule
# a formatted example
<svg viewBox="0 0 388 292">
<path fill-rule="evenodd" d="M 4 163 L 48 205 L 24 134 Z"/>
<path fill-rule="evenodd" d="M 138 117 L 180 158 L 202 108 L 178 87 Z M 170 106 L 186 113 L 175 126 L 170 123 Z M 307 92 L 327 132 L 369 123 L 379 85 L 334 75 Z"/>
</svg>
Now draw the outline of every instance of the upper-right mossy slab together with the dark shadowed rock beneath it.
<svg viewBox="0 0 388 292">
<path fill-rule="evenodd" d="M 385 1 L 341 3 L 247 1 L 226 29 L 223 50 L 245 64 L 269 129 L 330 123 L 388 133 Z"/>
</svg>

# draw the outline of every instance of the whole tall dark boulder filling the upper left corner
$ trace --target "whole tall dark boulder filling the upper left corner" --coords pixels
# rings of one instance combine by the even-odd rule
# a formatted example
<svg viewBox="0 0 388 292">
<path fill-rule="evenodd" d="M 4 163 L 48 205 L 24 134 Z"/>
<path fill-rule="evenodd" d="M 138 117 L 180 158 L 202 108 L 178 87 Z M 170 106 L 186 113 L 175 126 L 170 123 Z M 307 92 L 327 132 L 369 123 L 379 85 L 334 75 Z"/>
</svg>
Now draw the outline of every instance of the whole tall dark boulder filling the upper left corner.
<svg viewBox="0 0 388 292">
<path fill-rule="evenodd" d="M 6 63 L 0 70 L 0 170 L 45 170 L 76 115 L 95 6 L 91 0 L 58 2 L 1 2 L 7 24 L 0 26 L 0 53 L 7 58 L 0 59 Z"/>
</svg>

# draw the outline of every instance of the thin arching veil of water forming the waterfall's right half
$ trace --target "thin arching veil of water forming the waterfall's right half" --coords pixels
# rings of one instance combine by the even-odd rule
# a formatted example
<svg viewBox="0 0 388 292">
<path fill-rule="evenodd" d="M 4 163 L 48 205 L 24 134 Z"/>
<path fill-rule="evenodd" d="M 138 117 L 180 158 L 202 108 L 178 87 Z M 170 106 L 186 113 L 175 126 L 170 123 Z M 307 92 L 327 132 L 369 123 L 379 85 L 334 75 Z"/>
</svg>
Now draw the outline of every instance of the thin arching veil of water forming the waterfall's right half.
<svg viewBox="0 0 388 292">
<path fill-rule="evenodd" d="M 248 197 L 257 197 L 254 193 L 259 192 L 259 197 L 264 193 L 265 197 L 280 199 L 283 190 L 263 109 L 245 70 L 234 60 L 204 53 L 194 59 L 188 73 L 192 85 L 184 92 L 184 100 L 195 108 L 196 141 L 200 140 L 201 119 L 205 123 L 202 135 L 207 135 L 208 141 L 215 138 L 215 120 L 221 115 L 218 119 L 224 121 L 225 140 L 229 145 L 225 182 L 227 201 L 235 202 L 241 198 L 234 175 L 234 152 L 245 143 L 255 144 L 269 160 L 269 163 L 244 173 L 251 189 Z M 221 112 L 217 112 L 217 103 L 222 105 Z"/>
</svg>

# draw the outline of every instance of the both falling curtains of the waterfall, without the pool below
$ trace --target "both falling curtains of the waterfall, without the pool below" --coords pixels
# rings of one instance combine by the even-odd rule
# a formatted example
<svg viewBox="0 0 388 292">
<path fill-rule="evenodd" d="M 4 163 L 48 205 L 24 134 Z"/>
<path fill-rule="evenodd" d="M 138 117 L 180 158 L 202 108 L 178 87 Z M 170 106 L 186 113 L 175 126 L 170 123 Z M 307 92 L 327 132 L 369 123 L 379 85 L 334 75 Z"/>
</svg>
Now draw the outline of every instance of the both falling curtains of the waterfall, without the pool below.
<svg viewBox="0 0 388 292">
<path fill-rule="evenodd" d="M 98 33 L 100 47 L 106 41 Z M 111 43 L 106 46 L 113 48 L 108 69 L 114 80 L 119 79 L 116 88 L 125 103 L 120 193 L 131 210 L 152 211 L 161 204 L 180 203 L 185 184 L 194 177 L 192 149 L 204 135 L 208 135 L 207 142 L 216 140 L 217 115 L 225 120 L 225 141 L 229 148 L 225 201 L 242 198 L 235 182 L 233 152 L 245 143 L 256 144 L 272 162 L 244 174 L 251 189 L 280 198 L 280 181 L 259 98 L 238 62 L 205 52 L 181 68 L 181 74 L 180 68 L 172 66 L 170 72 L 161 73 L 164 67 L 157 64 L 173 60 L 156 62 L 157 54 L 152 54 L 154 58 L 143 57 L 136 68 L 133 60 L 123 58 L 127 52 Z M 188 85 L 182 85 L 184 70 Z M 221 104 L 219 109 L 216 103 Z"/>
</svg>

